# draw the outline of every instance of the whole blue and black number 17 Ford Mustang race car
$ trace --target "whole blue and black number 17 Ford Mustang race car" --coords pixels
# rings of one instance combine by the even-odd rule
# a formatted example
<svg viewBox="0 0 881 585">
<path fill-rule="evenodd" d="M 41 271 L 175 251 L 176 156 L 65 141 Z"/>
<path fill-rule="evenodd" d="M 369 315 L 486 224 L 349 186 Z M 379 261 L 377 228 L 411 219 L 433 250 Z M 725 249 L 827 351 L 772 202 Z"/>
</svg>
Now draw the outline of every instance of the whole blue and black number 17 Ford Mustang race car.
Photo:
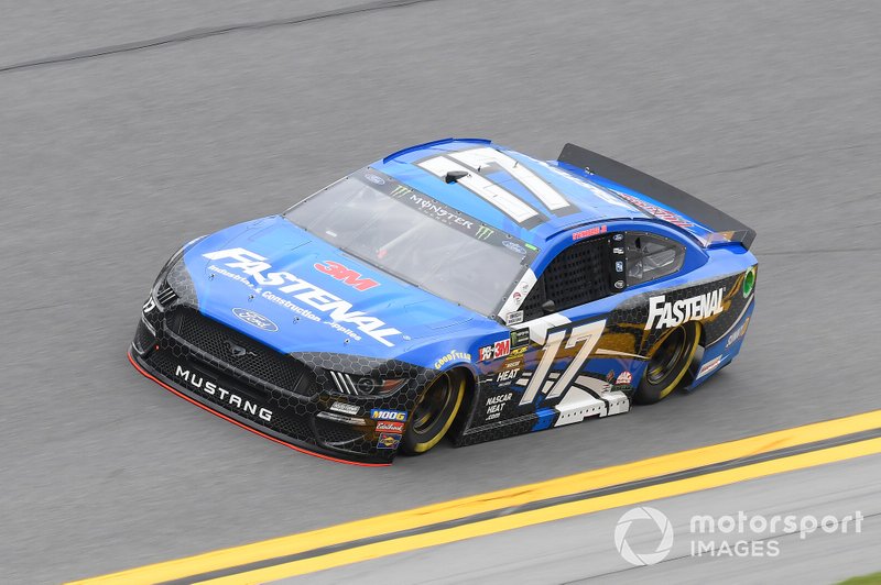
<svg viewBox="0 0 881 585">
<path fill-rule="evenodd" d="M 755 233 L 566 144 L 399 151 L 282 214 L 198 238 L 129 360 L 191 402 L 326 459 L 388 465 L 694 389 L 740 351 Z"/>
</svg>

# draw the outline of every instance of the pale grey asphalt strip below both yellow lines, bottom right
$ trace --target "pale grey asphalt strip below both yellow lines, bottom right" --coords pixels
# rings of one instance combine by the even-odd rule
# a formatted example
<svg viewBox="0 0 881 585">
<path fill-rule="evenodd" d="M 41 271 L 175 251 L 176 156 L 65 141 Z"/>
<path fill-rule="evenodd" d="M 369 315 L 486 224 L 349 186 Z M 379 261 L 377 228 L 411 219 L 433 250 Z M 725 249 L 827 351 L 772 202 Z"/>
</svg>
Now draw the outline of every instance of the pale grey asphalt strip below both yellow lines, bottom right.
<svg viewBox="0 0 881 585">
<path fill-rule="evenodd" d="M 802 486 L 793 493 L 792 485 Z M 856 459 L 801 470 L 684 496 L 649 501 L 666 516 L 673 547 L 660 563 L 634 566 L 618 553 L 614 532 L 624 511 L 617 508 L 520 528 L 474 540 L 400 553 L 327 571 L 280 580 L 291 585 L 336 583 L 423 583 L 431 585 L 508 585 L 510 583 L 837 583 L 878 569 L 881 545 L 881 456 Z M 744 507 L 743 504 L 749 503 Z M 862 520 L 859 531 L 849 521 Z M 694 516 L 717 521 L 743 512 L 730 532 L 692 531 Z M 761 516 L 768 522 L 751 520 Z M 771 529 L 773 517 L 793 516 L 804 527 L 785 534 Z M 811 530 L 811 519 L 838 519 L 836 531 Z M 722 525 L 725 527 L 725 520 Z M 757 527 L 755 530 L 751 528 Z M 831 527 L 831 520 L 827 527 Z M 777 527 L 782 522 L 776 523 Z M 653 552 L 661 531 L 651 520 L 634 521 L 626 533 L 631 550 Z M 737 544 L 754 542 L 750 544 Z M 694 544 L 693 544 L 694 542 Z M 727 547 L 722 543 L 727 543 Z M 772 544 L 773 542 L 773 544 Z M 714 552 L 704 547 L 713 545 Z M 735 551 L 735 552 L 730 552 Z M 817 562 L 820 559 L 822 562 Z"/>
</svg>

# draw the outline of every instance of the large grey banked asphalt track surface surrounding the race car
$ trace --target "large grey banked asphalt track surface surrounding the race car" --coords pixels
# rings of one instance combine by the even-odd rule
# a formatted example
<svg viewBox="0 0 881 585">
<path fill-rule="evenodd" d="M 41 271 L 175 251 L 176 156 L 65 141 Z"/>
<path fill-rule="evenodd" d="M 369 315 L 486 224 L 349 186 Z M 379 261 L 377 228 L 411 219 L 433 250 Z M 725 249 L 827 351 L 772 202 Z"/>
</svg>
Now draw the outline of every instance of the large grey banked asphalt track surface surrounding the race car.
<svg viewBox="0 0 881 585">
<path fill-rule="evenodd" d="M 0 69 L 57 62 L 0 71 L 4 580 L 84 577 L 881 406 L 881 4 L 434 0 L 63 58 L 356 3 L 0 2 Z M 181 243 L 448 135 L 546 158 L 575 142 L 753 227 L 741 356 L 690 396 L 382 470 L 294 453 L 131 368 L 138 311 Z"/>
</svg>

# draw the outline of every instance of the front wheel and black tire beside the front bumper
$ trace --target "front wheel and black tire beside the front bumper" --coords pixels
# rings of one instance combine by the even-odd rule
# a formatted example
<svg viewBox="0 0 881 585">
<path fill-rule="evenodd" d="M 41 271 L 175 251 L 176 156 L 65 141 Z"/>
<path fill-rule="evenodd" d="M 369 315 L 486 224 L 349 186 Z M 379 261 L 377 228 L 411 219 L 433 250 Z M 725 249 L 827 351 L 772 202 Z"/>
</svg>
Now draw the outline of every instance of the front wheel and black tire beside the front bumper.
<svg viewBox="0 0 881 585">
<path fill-rule="evenodd" d="M 402 453 L 422 455 L 440 442 L 459 412 L 465 386 L 465 375 L 455 369 L 440 374 L 432 382 L 413 409 L 401 438 Z"/>
</svg>

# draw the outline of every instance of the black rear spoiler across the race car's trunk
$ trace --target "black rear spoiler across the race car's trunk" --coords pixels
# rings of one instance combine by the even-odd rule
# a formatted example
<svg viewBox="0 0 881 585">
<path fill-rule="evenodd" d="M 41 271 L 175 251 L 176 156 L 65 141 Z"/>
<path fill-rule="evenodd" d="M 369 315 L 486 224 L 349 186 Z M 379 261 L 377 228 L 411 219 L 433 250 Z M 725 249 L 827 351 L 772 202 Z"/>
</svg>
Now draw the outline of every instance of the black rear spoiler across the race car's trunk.
<svg viewBox="0 0 881 585">
<path fill-rule="evenodd" d="M 621 187 L 637 191 L 659 205 L 670 208 L 670 211 L 681 212 L 683 216 L 686 216 L 686 220 L 694 220 L 706 228 L 709 233 L 696 233 L 696 230 L 689 230 L 688 225 L 686 225 L 690 223 L 688 221 L 677 223 L 674 220 L 672 223 L 677 223 L 679 227 L 692 232 L 704 242 L 706 247 L 736 243 L 749 250 L 750 245 L 752 245 L 752 241 L 755 239 L 754 230 L 740 223 L 731 216 L 719 211 L 711 205 L 672 185 L 667 185 L 663 180 L 641 173 L 618 161 L 612 161 L 601 154 L 590 152 L 575 144 L 566 144 L 563 147 L 563 152 L 559 153 L 557 162 L 574 166 L 578 170 L 589 175 L 596 175 L 597 178 L 605 178 Z M 635 203 L 641 209 L 654 216 L 660 216 L 662 220 L 671 221 L 671 216 L 675 218 L 673 213 L 664 213 L 665 210 L 663 209 L 659 210 L 651 201 L 641 201 L 626 194 L 618 195 L 623 196 L 628 202 Z"/>
</svg>

